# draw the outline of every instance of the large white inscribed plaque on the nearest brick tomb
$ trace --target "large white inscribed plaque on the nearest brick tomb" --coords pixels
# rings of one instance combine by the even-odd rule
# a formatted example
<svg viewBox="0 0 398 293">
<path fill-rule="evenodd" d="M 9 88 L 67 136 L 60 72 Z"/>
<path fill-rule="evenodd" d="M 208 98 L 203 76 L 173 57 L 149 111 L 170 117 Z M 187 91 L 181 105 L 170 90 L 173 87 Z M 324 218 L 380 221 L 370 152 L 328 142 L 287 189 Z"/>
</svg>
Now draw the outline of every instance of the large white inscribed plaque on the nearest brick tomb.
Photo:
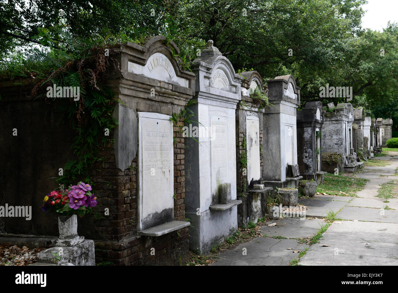
<svg viewBox="0 0 398 293">
<path fill-rule="evenodd" d="M 139 230 L 173 220 L 173 122 L 170 116 L 138 112 Z"/>
</svg>

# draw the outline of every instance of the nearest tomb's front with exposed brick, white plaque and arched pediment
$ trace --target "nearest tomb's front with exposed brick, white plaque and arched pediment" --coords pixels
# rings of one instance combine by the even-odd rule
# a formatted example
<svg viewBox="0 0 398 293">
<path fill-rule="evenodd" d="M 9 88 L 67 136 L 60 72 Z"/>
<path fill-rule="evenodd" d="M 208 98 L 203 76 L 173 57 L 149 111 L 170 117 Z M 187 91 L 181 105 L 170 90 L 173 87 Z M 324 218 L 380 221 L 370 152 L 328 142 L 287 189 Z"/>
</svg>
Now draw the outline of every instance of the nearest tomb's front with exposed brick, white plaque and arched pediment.
<svg viewBox="0 0 398 293">
<path fill-rule="evenodd" d="M 179 257 L 188 256 L 185 139 L 179 131 L 183 122 L 171 118 L 192 98 L 195 75 L 181 69 L 173 57 L 178 48 L 165 41 L 157 36 L 142 46 L 127 42 L 117 57 L 120 72 L 107 80 L 115 98 L 123 102 L 113 114 L 119 122 L 114 131 L 115 164 L 105 170 L 109 176 L 117 174 L 110 179 L 118 184 L 104 188 L 104 196 L 116 189 L 117 201 L 105 202 L 117 203 L 110 207 L 117 212 L 110 220 L 117 229 L 109 240 L 117 241 L 111 247 L 113 254 L 121 255 L 118 264 L 178 264 Z M 129 256 L 132 250 L 136 254 Z"/>
</svg>

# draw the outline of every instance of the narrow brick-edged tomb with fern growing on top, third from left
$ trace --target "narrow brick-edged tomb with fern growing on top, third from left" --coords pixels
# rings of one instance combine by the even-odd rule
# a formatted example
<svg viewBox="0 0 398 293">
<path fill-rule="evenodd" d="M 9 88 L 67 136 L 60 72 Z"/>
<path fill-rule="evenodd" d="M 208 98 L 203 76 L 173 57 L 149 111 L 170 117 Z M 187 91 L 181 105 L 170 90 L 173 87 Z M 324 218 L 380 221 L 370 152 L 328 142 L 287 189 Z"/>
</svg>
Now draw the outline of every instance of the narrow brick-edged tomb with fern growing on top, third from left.
<svg viewBox="0 0 398 293">
<path fill-rule="evenodd" d="M 272 188 L 261 184 L 263 152 L 264 108 L 255 97 L 266 96 L 266 89 L 257 71 L 241 72 L 242 100 L 236 108 L 236 182 L 238 205 L 238 226 L 247 226 L 249 221 L 257 223 L 267 211 L 267 196 Z"/>
</svg>

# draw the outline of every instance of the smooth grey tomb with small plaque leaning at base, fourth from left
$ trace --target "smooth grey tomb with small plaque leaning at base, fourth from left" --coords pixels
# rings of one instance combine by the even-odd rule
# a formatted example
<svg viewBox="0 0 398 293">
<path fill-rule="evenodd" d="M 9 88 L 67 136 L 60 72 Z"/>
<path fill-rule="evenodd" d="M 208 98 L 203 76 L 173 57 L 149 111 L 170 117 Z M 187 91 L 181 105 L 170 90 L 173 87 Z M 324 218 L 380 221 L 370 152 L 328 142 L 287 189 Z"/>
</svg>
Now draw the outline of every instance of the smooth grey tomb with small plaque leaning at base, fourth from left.
<svg viewBox="0 0 398 293">
<path fill-rule="evenodd" d="M 293 75 L 267 80 L 268 99 L 272 104 L 263 116 L 263 179 L 272 187 L 297 187 L 302 176 L 289 177 L 289 165 L 297 165 L 296 110 L 300 88 Z"/>
</svg>

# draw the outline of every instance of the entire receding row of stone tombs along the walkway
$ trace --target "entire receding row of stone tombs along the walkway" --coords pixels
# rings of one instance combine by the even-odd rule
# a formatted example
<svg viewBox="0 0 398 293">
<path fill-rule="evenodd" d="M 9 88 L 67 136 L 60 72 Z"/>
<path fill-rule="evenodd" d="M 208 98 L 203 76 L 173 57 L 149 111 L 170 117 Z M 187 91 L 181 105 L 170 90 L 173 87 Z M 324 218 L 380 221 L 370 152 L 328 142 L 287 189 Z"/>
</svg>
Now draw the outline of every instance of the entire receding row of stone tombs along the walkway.
<svg viewBox="0 0 398 293">
<path fill-rule="evenodd" d="M 112 239 L 189 226 L 189 246 L 207 252 L 238 225 L 265 215 L 276 188 L 295 188 L 303 178 L 319 183 L 336 168 L 354 172 L 357 153 L 371 156 L 391 134 L 389 121 L 363 117 L 351 104 L 325 112 L 321 102 L 308 102 L 297 110 L 300 88 L 292 75 L 264 87 L 256 71 L 235 74 L 210 41 L 193 73 L 181 69 L 170 46 L 162 36 L 142 47 L 123 45 L 113 76 L 119 82 L 107 84 L 121 101 L 113 116 L 114 167 L 127 174 L 137 164 L 137 227 Z M 193 119 L 173 121 L 190 100 Z M 322 166 L 321 152 L 337 152 L 341 162 Z"/>
</svg>

